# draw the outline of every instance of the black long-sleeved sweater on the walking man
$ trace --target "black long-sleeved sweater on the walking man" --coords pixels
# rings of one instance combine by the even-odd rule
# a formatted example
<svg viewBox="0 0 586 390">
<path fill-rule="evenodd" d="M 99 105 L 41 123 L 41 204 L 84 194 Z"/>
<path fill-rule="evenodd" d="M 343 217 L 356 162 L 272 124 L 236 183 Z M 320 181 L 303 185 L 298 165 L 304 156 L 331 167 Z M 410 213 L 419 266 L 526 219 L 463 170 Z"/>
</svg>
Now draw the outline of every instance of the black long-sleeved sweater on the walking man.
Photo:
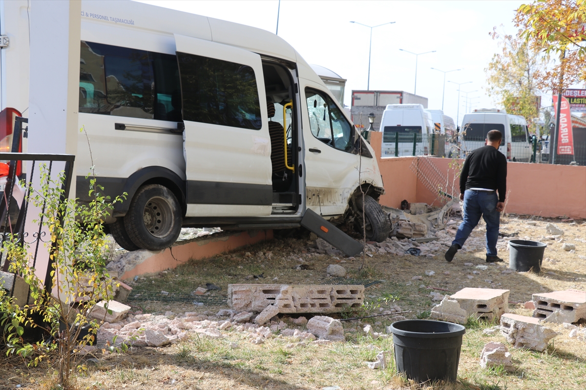
<svg viewBox="0 0 586 390">
<path fill-rule="evenodd" d="M 499 191 L 499 202 L 505 202 L 507 192 L 507 158 L 493 146 L 473 150 L 460 174 L 460 192 L 466 189 L 486 188 Z"/>
</svg>

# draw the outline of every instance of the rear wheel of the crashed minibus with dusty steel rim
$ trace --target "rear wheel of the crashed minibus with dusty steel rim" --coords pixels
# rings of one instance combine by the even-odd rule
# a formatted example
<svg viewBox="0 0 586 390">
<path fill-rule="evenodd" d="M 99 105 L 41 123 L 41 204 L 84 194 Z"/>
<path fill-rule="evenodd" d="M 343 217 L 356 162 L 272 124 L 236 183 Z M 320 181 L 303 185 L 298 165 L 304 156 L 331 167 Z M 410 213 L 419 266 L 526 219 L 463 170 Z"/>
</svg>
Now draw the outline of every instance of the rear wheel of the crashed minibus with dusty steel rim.
<svg viewBox="0 0 586 390">
<path fill-rule="evenodd" d="M 181 233 L 181 223 L 182 211 L 177 198 L 160 184 L 139 188 L 124 216 L 131 241 L 148 250 L 172 246 Z"/>
</svg>

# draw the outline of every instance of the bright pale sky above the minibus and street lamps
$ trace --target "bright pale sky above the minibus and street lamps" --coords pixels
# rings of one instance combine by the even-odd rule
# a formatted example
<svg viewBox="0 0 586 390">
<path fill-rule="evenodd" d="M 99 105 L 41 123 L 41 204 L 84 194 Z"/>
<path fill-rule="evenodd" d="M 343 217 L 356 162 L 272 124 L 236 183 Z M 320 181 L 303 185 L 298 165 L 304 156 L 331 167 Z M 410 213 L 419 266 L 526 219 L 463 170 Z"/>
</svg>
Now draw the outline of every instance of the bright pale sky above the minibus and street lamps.
<svg viewBox="0 0 586 390">
<path fill-rule="evenodd" d="M 277 30 L 278 0 L 141 1 L 272 33 Z M 428 98 L 429 109 L 442 109 L 443 104 L 446 115 L 455 121 L 459 115 L 461 121 L 471 109 L 501 108 L 486 94 L 485 68 L 499 51 L 490 33 L 493 27 L 500 33 L 516 33 L 515 9 L 527 2 L 282 0 L 278 35 L 309 64 L 346 78 L 344 103 L 350 105 L 352 89 L 367 89 L 370 39 L 369 28 L 350 21 L 369 26 L 395 22 L 372 29 L 370 89 L 414 93 L 416 56 L 399 49 L 435 50 L 417 57 L 417 95 Z M 444 73 L 432 67 L 461 70 L 445 75 L 444 92 Z M 466 84 L 458 87 L 452 82 Z M 548 105 L 551 96 L 543 96 L 542 106 Z"/>
</svg>

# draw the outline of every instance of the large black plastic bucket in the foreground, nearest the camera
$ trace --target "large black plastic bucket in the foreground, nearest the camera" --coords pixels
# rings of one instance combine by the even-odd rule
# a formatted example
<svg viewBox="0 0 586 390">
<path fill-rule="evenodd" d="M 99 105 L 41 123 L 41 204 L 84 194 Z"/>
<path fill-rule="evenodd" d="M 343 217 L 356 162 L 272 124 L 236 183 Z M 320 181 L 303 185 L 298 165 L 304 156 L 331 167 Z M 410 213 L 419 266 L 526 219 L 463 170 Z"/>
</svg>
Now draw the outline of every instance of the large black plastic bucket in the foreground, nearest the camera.
<svg viewBox="0 0 586 390">
<path fill-rule="evenodd" d="M 455 381 L 462 347 L 462 325 L 432 321 L 405 320 L 390 326 L 393 333 L 397 370 L 408 379 Z"/>
</svg>

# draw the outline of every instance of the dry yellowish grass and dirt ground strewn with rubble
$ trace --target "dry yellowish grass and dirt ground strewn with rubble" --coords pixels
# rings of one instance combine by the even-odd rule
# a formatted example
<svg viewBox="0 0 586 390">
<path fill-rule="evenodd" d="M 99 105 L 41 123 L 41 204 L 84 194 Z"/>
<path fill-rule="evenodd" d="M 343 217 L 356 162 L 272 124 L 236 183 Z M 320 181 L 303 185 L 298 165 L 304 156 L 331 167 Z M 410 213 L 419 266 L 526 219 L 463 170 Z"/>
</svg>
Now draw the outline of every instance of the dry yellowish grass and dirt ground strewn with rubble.
<svg viewBox="0 0 586 390">
<path fill-rule="evenodd" d="M 537 220 L 537 219 L 536 219 Z M 537 226 L 529 226 L 524 220 L 504 218 L 501 230 L 519 232 L 519 237 L 540 239 L 547 236 L 546 221 L 537 220 Z M 566 242 L 576 245 L 576 253 L 561 249 L 561 243 L 548 240 L 546 258 L 540 274 L 502 274 L 505 265 L 490 264 L 488 270 L 480 271 L 468 279 L 467 275 L 475 270 L 464 263 L 486 264 L 485 252 L 458 253 L 452 263 L 442 256 L 436 258 L 413 256 L 376 255 L 367 258 L 367 267 L 359 271 L 361 259 L 342 263 L 352 278 L 381 279 L 385 282 L 366 289 L 367 310 L 352 313 L 364 315 L 378 312 L 378 307 L 398 304 L 403 310 L 412 310 L 407 317 L 428 316 L 434 303 L 429 296 L 431 291 L 450 294 L 463 287 L 493 287 L 510 289 L 510 301 L 525 302 L 535 292 L 549 292 L 567 288 L 585 289 L 586 261 L 578 256 L 586 256 L 586 225 L 570 225 L 554 221 L 565 230 Z M 473 234 L 483 234 L 479 226 Z M 148 277 L 139 280 L 133 287 L 149 291 L 181 292 L 193 291 L 206 282 L 222 287 L 225 294 L 230 283 L 277 283 L 321 284 L 326 281 L 325 268 L 336 263 L 335 258 L 325 255 L 306 257 L 303 253 L 311 242 L 308 239 L 274 240 L 271 243 L 257 244 L 243 251 L 226 254 L 205 261 L 183 265 L 169 271 L 165 277 Z M 259 254 L 263 251 L 263 254 Z M 267 253 L 269 251 L 270 253 Z M 245 256 L 246 252 L 251 256 Z M 268 258 L 270 254 L 271 258 Z M 441 255 L 441 253 L 438 253 Z M 508 253 L 499 255 L 508 260 Z M 302 258 L 302 263 L 297 259 Z M 306 264 L 309 270 L 296 271 L 299 264 Z M 507 263 L 505 263 L 507 264 Z M 434 270 L 432 277 L 425 276 L 425 270 Z M 449 275 L 444 274 L 445 271 Z M 264 279 L 244 279 L 247 275 L 264 274 Z M 422 275 L 423 280 L 414 280 Z M 492 283 L 485 282 L 492 280 Z M 498 285 L 500 283 L 500 285 Z M 421 287 L 423 285 L 423 287 Z M 428 289 L 440 288 L 442 290 Z M 381 297 L 396 296 L 398 302 L 385 302 Z M 133 302 L 137 309 L 144 312 L 175 313 L 186 311 L 216 312 L 220 306 L 195 308 L 191 304 L 166 302 Z M 509 310 L 522 315 L 531 315 L 531 310 L 521 304 L 510 304 Z M 350 315 L 350 313 L 346 313 Z M 287 320 L 287 317 L 284 317 Z M 273 338 L 264 344 L 253 345 L 247 333 L 224 332 L 220 340 L 194 337 L 180 344 L 164 348 L 134 348 L 127 354 L 97 356 L 97 365 L 88 364 L 86 374 L 77 379 L 80 389 L 321 389 L 323 386 L 338 385 L 349 389 L 583 389 L 586 387 L 586 348 L 583 342 L 568 338 L 563 327 L 547 324 L 561 333 L 546 351 L 510 350 L 516 365 L 513 373 L 502 370 L 484 370 L 479 367 L 479 354 L 489 341 L 504 342 L 500 334 L 488 336 L 482 333 L 490 323 L 472 322 L 467 326 L 462 353 L 459 361 L 458 382 L 452 384 L 416 385 L 397 375 L 393 364 L 386 370 L 369 370 L 366 361 L 374 361 L 377 352 L 392 351 L 391 339 L 372 340 L 364 336 L 364 324 L 373 325 L 376 332 L 383 332 L 389 325 L 386 317 L 364 319 L 362 322 L 344 322 L 346 343 L 333 343 L 317 346 L 295 346 L 287 348 L 291 339 Z M 231 343 L 239 348 L 230 348 Z M 44 374 L 44 372 L 43 372 Z M 40 371 L 23 369 L 22 364 L 13 361 L 8 370 L 0 363 L 0 377 L 8 378 L 6 388 L 16 384 L 29 384 L 30 388 L 40 388 L 50 382 Z M 30 381 L 33 384 L 30 384 Z M 0 383 L 0 388 L 2 388 Z M 28 387 L 27 386 L 27 387 Z M 45 385 L 43 385 L 45 386 Z"/>
</svg>

